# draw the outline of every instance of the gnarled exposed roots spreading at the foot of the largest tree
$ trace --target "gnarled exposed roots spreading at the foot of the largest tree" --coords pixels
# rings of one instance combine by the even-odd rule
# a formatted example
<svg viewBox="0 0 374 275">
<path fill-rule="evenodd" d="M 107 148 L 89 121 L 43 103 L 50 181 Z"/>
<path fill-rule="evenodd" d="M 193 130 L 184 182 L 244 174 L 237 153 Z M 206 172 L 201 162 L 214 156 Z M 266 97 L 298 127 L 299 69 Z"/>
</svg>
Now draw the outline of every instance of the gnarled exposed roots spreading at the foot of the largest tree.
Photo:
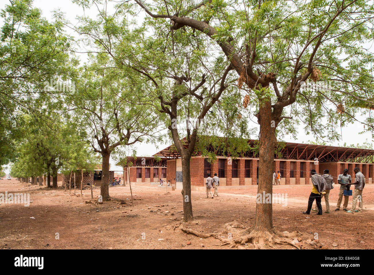
<svg viewBox="0 0 374 275">
<path fill-rule="evenodd" d="M 214 237 L 223 242 L 220 246 L 229 245 L 229 248 L 239 249 L 246 249 L 250 247 L 250 245 L 253 245 L 253 248 L 257 249 L 269 249 L 274 248 L 277 244 L 290 245 L 292 247 L 300 249 L 300 246 L 297 245 L 297 242 L 293 241 L 291 238 L 303 236 L 303 234 L 298 231 L 294 231 L 292 233 L 284 233 L 276 230 L 275 228 L 273 228 L 271 231 L 258 230 L 253 228 L 246 230 L 243 225 L 237 223 L 236 221 L 232 223 L 226 223 L 221 233 L 206 234 L 198 232 L 194 229 L 184 227 L 183 222 L 180 222 L 176 226 L 173 226 L 173 230 L 178 227 L 181 231 L 187 234 L 193 234 L 199 238 L 205 239 Z M 225 234 L 227 234 L 227 238 L 221 237 L 221 235 Z M 241 237 L 232 239 L 233 235 L 241 235 Z"/>
</svg>

